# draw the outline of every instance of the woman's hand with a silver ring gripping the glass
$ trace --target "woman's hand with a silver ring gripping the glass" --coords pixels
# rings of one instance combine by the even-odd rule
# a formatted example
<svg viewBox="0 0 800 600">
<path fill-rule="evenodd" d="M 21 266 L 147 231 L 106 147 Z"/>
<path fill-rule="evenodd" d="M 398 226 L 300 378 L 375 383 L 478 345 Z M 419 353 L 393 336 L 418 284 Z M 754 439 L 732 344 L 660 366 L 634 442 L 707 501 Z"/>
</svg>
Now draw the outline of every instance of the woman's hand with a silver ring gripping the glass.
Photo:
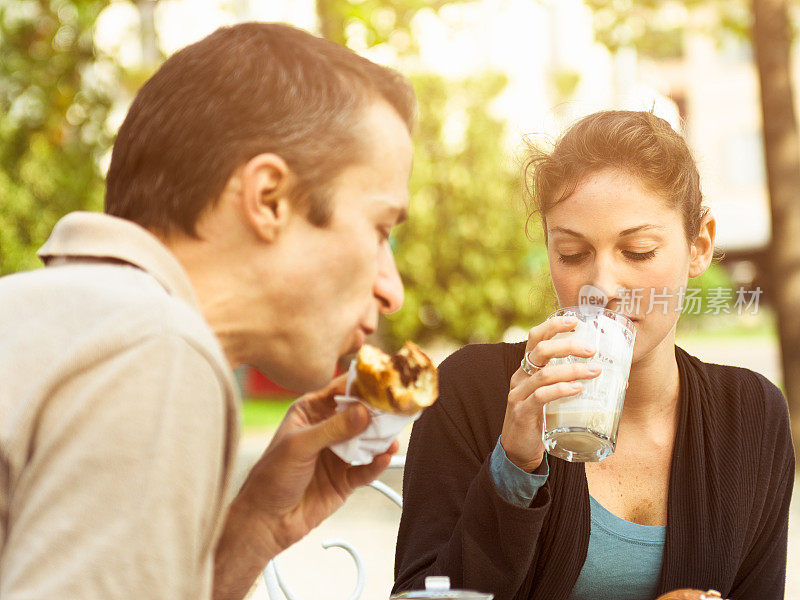
<svg viewBox="0 0 800 600">
<path fill-rule="evenodd" d="M 511 376 L 500 443 L 509 460 L 523 471 L 534 471 L 544 456 L 544 405 L 579 393 L 583 386 L 577 380 L 600 374 L 600 366 L 593 364 L 546 366 L 551 358 L 594 356 L 596 349 L 585 346 L 574 336 L 553 339 L 558 333 L 573 330 L 577 324 L 575 317 L 554 317 L 532 328 L 525 352 L 530 362 L 542 368 L 532 375 L 519 368 Z"/>
</svg>

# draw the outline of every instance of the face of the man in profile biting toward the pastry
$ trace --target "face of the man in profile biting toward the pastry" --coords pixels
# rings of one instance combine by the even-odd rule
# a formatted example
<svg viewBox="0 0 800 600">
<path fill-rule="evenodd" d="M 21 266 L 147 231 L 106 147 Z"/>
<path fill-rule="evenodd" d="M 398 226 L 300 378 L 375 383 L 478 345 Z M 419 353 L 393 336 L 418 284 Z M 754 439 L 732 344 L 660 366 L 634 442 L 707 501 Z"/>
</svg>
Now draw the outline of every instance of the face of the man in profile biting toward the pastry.
<svg viewBox="0 0 800 600">
<path fill-rule="evenodd" d="M 261 368 L 297 391 L 326 383 L 339 358 L 375 331 L 379 313 L 403 303 L 389 233 L 408 210 L 411 138 L 384 102 L 355 127 L 362 152 L 327 190 L 330 223 L 314 227 L 296 213 L 279 241 L 281 280 L 269 282 L 280 290 L 281 322 L 272 324 L 280 335 Z"/>
</svg>

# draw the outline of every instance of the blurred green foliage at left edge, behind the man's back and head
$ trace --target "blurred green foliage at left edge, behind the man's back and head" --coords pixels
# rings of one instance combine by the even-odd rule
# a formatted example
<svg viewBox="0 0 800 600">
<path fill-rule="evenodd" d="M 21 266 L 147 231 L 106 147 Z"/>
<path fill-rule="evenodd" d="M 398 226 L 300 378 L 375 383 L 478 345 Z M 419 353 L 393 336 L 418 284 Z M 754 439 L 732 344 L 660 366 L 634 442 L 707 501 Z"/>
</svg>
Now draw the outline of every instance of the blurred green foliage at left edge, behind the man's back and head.
<svg viewBox="0 0 800 600">
<path fill-rule="evenodd" d="M 65 213 L 102 206 L 117 67 L 95 55 L 100 0 L 0 3 L 0 274 L 40 265 Z"/>
</svg>

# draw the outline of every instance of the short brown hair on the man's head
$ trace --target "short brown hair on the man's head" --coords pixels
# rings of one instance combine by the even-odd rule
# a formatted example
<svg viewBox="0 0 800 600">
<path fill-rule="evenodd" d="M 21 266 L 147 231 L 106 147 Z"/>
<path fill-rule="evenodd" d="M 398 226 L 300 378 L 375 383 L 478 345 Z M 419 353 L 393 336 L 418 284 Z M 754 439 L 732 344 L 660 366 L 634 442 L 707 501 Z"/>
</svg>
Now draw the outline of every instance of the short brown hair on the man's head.
<svg viewBox="0 0 800 600">
<path fill-rule="evenodd" d="M 324 185 L 358 160 L 354 126 L 376 99 L 411 130 L 414 92 L 399 73 L 289 25 L 222 27 L 139 90 L 114 143 L 106 212 L 194 236 L 234 170 L 269 152 L 295 175 L 292 196 L 309 221 L 324 226 Z"/>
</svg>

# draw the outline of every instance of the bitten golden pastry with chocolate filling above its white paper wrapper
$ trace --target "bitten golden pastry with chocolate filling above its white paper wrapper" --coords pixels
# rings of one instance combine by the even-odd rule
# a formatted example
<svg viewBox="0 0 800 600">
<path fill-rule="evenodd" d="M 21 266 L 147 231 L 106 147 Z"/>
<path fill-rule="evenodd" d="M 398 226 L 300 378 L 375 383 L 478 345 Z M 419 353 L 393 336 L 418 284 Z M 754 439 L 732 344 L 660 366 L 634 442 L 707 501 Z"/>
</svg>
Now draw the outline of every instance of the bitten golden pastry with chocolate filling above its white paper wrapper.
<svg viewBox="0 0 800 600">
<path fill-rule="evenodd" d="M 365 344 L 358 351 L 353 391 L 378 410 L 413 415 L 436 401 L 439 377 L 414 342 L 406 342 L 392 356 Z"/>
</svg>

